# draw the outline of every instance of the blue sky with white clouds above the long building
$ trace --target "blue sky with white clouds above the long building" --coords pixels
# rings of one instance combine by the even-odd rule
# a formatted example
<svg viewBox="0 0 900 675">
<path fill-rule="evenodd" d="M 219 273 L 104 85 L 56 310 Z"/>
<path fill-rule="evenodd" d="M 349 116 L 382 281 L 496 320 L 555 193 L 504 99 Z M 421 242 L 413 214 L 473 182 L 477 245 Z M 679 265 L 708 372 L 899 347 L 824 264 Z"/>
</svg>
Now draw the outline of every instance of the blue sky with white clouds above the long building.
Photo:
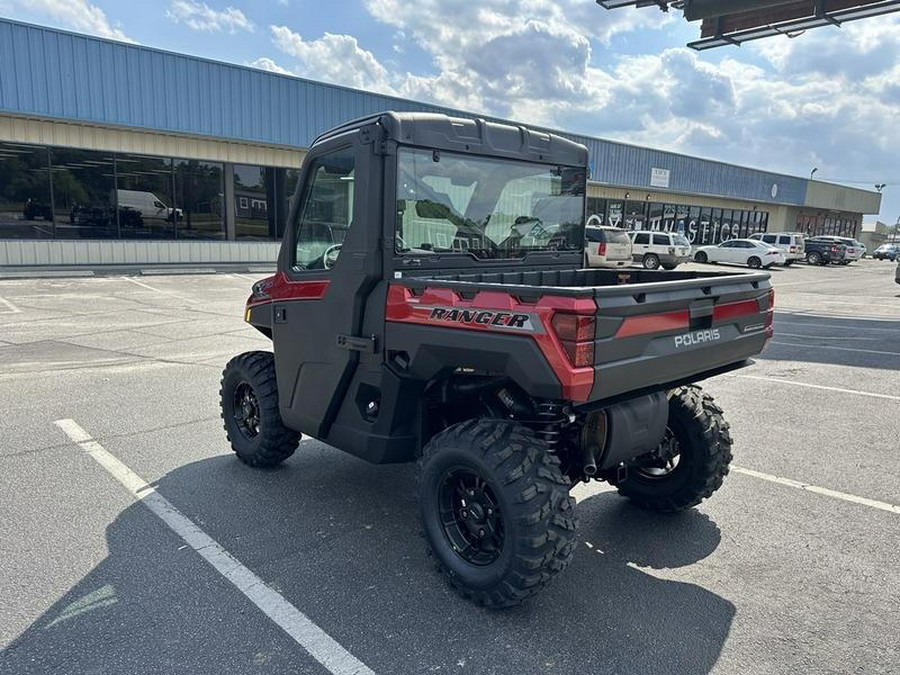
<svg viewBox="0 0 900 675">
<path fill-rule="evenodd" d="M 900 15 L 697 53 L 592 0 L 0 0 L 0 14 L 874 189 L 900 220 Z"/>
</svg>

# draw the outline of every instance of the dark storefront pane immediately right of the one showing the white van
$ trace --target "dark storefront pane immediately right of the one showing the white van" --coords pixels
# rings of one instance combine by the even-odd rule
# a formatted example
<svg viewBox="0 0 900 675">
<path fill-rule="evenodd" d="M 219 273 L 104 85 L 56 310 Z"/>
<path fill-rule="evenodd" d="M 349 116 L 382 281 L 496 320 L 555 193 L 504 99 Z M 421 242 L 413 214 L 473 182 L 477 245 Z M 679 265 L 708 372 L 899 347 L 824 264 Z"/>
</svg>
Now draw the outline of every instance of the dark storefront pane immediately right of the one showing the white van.
<svg viewBox="0 0 900 675">
<path fill-rule="evenodd" d="M 175 160 L 175 221 L 179 239 L 224 239 L 222 165 Z"/>
</svg>

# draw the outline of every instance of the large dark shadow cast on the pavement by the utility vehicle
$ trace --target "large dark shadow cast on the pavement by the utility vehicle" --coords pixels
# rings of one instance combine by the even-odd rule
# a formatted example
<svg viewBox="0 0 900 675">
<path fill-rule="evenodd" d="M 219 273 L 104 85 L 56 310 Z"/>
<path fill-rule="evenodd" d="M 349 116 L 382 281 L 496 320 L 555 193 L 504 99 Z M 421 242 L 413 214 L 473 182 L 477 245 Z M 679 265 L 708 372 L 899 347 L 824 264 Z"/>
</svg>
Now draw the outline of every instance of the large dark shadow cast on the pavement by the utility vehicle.
<svg viewBox="0 0 900 675">
<path fill-rule="evenodd" d="M 659 516 L 610 492 L 586 499 L 569 569 L 524 605 L 491 612 L 435 573 L 410 466 L 305 441 L 276 470 L 215 457 L 157 489 L 381 675 L 698 675 L 735 614 L 710 591 L 634 567 L 710 555 L 719 529 L 696 510 Z M 108 557 L 0 654 L 0 671 L 325 672 L 142 505 L 107 539 Z"/>
</svg>

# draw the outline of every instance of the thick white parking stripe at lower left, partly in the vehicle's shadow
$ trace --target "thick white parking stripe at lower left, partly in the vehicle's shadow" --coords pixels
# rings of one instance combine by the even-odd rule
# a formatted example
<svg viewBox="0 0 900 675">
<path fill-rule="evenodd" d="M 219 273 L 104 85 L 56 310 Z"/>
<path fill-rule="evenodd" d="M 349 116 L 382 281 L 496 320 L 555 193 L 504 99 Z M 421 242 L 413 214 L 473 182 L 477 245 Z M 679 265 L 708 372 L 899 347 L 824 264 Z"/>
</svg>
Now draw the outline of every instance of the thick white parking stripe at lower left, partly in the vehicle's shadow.
<svg viewBox="0 0 900 675">
<path fill-rule="evenodd" d="M 284 596 L 267 586 L 262 579 L 238 562 L 218 542 L 148 485 L 147 481 L 91 438 L 90 434 L 74 420 L 57 420 L 55 424 L 330 673 L 374 675 L 368 666 L 285 600 Z"/>
</svg>

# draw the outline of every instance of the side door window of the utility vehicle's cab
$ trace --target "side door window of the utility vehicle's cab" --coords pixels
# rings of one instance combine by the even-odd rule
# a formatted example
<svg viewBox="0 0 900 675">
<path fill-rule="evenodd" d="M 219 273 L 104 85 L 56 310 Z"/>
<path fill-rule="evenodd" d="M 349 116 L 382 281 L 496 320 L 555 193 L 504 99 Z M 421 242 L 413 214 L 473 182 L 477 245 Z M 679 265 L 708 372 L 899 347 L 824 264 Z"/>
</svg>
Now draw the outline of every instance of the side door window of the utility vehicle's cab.
<svg viewBox="0 0 900 675">
<path fill-rule="evenodd" d="M 353 219 L 353 148 L 313 160 L 297 209 L 295 270 L 331 269 Z"/>
</svg>

